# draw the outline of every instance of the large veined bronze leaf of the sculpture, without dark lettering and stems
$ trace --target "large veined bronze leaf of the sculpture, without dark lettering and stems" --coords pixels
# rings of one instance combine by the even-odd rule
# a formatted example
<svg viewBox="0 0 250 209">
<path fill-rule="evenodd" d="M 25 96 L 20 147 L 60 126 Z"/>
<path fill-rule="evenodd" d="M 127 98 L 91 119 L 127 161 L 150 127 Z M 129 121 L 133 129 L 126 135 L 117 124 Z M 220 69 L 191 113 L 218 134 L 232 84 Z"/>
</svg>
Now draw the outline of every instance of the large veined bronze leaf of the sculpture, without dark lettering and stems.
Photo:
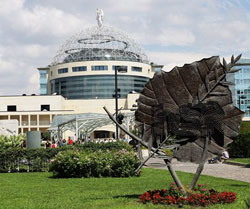
<svg viewBox="0 0 250 209">
<path fill-rule="evenodd" d="M 226 64 L 225 64 L 226 65 Z M 179 108 L 185 104 L 216 102 L 225 115 L 222 121 L 224 131 L 223 145 L 212 138 L 208 147 L 208 156 L 220 155 L 239 133 L 243 112 L 232 104 L 232 94 L 227 85 L 223 85 L 227 66 L 220 63 L 218 56 L 202 59 L 183 67 L 175 67 L 170 72 L 161 71 L 148 81 L 137 103 L 136 120 L 143 124 L 147 133 L 144 140 L 153 138 L 153 144 L 166 137 L 166 127 L 171 117 L 178 115 Z M 221 82 L 219 82 L 221 81 Z M 168 120 L 166 120 L 166 113 Z M 174 120 L 174 117 L 172 118 Z M 158 139 L 157 139 L 158 138 Z M 174 156 L 180 161 L 199 162 L 203 150 L 203 139 L 198 138 L 182 145 Z"/>
</svg>

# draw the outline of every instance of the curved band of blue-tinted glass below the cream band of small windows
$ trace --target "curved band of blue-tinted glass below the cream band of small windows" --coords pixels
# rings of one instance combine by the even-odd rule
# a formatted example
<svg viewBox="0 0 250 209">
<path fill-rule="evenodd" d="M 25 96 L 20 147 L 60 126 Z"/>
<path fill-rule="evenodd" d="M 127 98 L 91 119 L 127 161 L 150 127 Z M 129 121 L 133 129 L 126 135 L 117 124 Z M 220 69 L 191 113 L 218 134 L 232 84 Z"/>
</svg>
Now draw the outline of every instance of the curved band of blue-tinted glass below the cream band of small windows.
<svg viewBox="0 0 250 209">
<path fill-rule="evenodd" d="M 121 98 L 132 91 L 141 92 L 149 78 L 143 76 L 118 75 Z M 114 75 L 86 75 L 58 78 L 51 81 L 51 94 L 57 93 L 68 99 L 113 98 Z"/>
</svg>

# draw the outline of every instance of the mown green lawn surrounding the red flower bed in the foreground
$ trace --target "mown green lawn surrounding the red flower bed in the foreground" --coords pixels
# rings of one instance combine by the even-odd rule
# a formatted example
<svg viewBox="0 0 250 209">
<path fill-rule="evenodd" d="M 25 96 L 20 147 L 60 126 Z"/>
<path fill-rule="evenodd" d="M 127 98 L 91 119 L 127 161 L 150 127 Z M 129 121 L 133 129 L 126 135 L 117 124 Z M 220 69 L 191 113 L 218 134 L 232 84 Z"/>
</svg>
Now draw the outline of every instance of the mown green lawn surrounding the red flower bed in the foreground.
<svg viewBox="0 0 250 209">
<path fill-rule="evenodd" d="M 184 184 L 190 182 L 192 174 L 177 173 Z M 143 205 L 137 200 L 139 194 L 147 190 L 166 188 L 172 182 L 168 171 L 149 168 L 143 169 L 140 177 L 132 178 L 53 179 L 51 176 L 51 173 L 0 174 L 0 208 L 166 208 L 163 205 Z M 243 209 L 243 200 L 250 197 L 249 183 L 208 176 L 201 176 L 199 183 L 206 183 L 208 188 L 219 191 L 237 193 L 236 203 L 210 208 Z"/>
</svg>

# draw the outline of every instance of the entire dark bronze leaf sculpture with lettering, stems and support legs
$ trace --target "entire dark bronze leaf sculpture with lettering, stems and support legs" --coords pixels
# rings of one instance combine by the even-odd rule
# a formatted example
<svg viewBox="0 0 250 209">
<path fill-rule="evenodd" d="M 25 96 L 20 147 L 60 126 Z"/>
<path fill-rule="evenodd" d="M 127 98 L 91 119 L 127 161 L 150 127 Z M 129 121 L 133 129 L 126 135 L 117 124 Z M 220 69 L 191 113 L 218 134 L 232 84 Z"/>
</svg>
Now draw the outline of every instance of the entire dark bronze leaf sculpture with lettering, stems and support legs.
<svg viewBox="0 0 250 209">
<path fill-rule="evenodd" d="M 199 163 L 189 186 L 193 189 L 205 160 L 220 155 L 239 133 L 244 113 L 232 104 L 232 83 L 226 81 L 226 75 L 238 71 L 232 68 L 240 57 L 232 56 L 229 64 L 223 59 L 221 64 L 214 56 L 161 71 L 149 80 L 137 100 L 136 120 L 143 136 L 138 139 L 127 134 L 148 147 L 149 158 L 164 159 L 179 187 L 183 188 L 172 169 L 172 157 Z M 166 155 L 164 149 L 173 150 L 173 156 Z"/>
</svg>

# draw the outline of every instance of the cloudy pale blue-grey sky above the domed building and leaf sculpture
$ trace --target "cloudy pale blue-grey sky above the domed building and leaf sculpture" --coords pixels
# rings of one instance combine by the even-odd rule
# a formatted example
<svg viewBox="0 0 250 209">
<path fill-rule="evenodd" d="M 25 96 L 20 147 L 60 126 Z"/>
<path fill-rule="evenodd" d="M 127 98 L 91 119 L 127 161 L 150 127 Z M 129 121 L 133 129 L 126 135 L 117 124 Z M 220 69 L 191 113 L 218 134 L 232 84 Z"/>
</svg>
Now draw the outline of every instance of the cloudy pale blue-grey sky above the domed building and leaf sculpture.
<svg viewBox="0 0 250 209">
<path fill-rule="evenodd" d="M 39 93 L 37 67 L 96 25 L 97 7 L 166 70 L 212 55 L 250 58 L 250 0 L 0 0 L 0 95 Z"/>
</svg>

